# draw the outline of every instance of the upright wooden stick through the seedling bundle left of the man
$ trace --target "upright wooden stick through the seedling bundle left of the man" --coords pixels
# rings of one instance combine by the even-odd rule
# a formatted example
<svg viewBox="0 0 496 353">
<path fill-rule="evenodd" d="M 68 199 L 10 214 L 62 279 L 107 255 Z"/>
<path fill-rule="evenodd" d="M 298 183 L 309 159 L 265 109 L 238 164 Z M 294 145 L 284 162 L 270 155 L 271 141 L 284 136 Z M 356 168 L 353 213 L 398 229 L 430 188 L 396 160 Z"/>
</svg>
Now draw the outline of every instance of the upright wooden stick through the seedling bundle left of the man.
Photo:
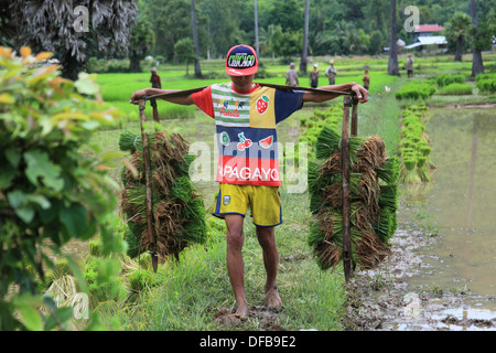
<svg viewBox="0 0 496 353">
<path fill-rule="evenodd" d="M 148 143 L 148 133 L 144 132 L 144 122 L 147 121 L 147 116 L 144 115 L 144 107 L 147 100 L 141 99 L 140 107 L 140 127 L 141 127 L 141 140 L 143 142 L 143 164 L 144 164 L 144 186 L 145 186 L 145 204 L 147 204 L 147 223 L 148 223 L 148 236 L 149 246 L 148 253 L 152 257 L 153 271 L 157 272 L 159 267 L 159 256 L 157 254 L 157 240 L 155 232 L 153 225 L 153 193 L 151 188 L 151 161 L 150 161 L 150 150 Z"/>
</svg>

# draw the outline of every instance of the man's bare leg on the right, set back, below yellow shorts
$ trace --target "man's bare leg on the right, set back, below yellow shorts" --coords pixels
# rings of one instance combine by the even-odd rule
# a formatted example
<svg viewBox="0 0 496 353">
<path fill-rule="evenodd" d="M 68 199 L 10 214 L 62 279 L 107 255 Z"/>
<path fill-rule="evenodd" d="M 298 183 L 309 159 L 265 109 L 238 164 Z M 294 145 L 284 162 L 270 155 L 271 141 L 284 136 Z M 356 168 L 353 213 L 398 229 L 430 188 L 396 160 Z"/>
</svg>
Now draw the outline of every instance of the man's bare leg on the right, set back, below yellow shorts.
<svg viewBox="0 0 496 353">
<path fill-rule="evenodd" d="M 278 275 L 279 252 L 276 244 L 274 227 L 258 227 L 257 238 L 263 252 L 263 265 L 267 271 L 266 295 L 269 308 L 282 306 L 276 277 Z"/>
</svg>

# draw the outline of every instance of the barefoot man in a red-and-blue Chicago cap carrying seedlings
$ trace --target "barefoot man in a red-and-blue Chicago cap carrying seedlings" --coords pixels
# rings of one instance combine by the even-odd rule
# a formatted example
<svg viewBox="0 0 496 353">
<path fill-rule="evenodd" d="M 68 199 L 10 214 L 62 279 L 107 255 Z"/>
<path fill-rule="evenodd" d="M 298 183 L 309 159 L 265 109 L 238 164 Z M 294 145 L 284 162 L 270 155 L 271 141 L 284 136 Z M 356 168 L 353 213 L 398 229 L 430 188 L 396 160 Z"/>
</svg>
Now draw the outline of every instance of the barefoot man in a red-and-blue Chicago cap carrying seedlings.
<svg viewBox="0 0 496 353">
<path fill-rule="evenodd" d="M 236 45 L 229 50 L 226 58 L 230 83 L 215 84 L 185 96 L 161 97 L 175 104 L 194 104 L 215 121 L 219 156 L 216 181 L 219 183 L 219 192 L 213 214 L 226 222 L 227 271 L 236 298 L 236 312 L 233 315 L 240 319 L 246 319 L 249 312 L 241 254 L 242 224 L 248 205 L 263 254 L 268 307 L 282 304 L 276 281 L 279 252 L 274 226 L 282 223 L 276 126 L 301 109 L 305 101 L 319 103 L 338 96 L 263 87 L 254 83 L 257 71 L 255 50 L 248 45 Z M 367 90 L 355 83 L 321 89 L 353 90 L 359 103 L 367 101 Z M 145 96 L 174 92 L 181 90 L 145 88 L 134 92 L 130 103 L 139 104 Z"/>
</svg>

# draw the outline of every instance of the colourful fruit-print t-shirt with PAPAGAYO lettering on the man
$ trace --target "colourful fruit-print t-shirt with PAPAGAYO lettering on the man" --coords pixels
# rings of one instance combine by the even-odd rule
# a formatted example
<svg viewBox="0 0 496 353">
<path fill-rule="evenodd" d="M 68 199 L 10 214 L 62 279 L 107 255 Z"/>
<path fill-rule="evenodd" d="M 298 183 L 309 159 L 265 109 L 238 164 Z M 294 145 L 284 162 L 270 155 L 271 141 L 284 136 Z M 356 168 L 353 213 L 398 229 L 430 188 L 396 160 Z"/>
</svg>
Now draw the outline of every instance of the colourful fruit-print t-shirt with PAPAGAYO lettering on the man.
<svg viewBox="0 0 496 353">
<path fill-rule="evenodd" d="M 216 181 L 280 186 L 276 125 L 303 106 L 303 93 L 257 85 L 239 93 L 231 83 L 193 94 L 194 104 L 215 119 Z"/>
</svg>

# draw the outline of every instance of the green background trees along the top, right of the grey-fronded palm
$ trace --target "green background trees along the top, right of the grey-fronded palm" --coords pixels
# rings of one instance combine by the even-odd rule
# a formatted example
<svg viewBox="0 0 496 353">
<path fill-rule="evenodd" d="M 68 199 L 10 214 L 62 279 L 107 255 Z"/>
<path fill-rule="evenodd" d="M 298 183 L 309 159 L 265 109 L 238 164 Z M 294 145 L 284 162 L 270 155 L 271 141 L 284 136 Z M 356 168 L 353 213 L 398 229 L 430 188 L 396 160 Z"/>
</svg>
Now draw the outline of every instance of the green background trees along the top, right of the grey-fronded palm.
<svg viewBox="0 0 496 353">
<path fill-rule="evenodd" d="M 403 29 L 407 6 L 417 6 L 421 23 L 444 25 L 455 12 L 471 15 L 471 0 L 396 0 L 396 36 L 412 42 L 412 33 Z M 278 55 L 278 43 L 271 43 L 278 28 L 285 35 L 299 38 L 291 55 L 377 54 L 390 40 L 390 0 L 195 0 L 201 57 L 222 57 L 234 43 L 259 47 L 262 56 Z M 308 3 L 309 2 L 309 3 Z M 257 12 L 255 11 L 257 4 Z M 309 28 L 305 30 L 305 6 Z M 496 6 L 495 0 L 477 1 L 478 17 Z M 155 53 L 173 60 L 173 43 L 191 36 L 188 0 L 141 0 L 140 11 L 157 29 Z M 258 28 L 255 25 L 257 13 Z M 256 36 L 258 31 L 258 36 Z M 258 38 L 258 43 L 256 42 Z M 285 38 L 287 39 L 287 38 Z M 280 54 L 280 53 L 279 53 Z"/>
</svg>

